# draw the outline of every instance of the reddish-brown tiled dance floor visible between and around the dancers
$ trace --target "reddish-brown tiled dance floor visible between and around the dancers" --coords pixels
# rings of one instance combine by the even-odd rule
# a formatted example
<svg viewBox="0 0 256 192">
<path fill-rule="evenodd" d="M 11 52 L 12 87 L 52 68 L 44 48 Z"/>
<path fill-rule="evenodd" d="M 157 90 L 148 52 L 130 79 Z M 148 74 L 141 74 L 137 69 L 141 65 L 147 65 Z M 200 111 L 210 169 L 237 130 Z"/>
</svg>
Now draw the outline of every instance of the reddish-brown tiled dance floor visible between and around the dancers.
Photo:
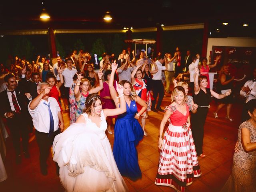
<svg viewBox="0 0 256 192">
<path fill-rule="evenodd" d="M 170 104 L 170 94 L 164 98 L 163 106 Z M 216 103 L 212 101 L 211 108 L 204 127 L 204 153 L 206 158 L 199 158 L 202 171 L 200 178 L 194 179 L 192 185 L 186 188 L 188 192 L 217 192 L 220 191 L 228 179 L 232 168 L 232 156 L 234 144 L 237 139 L 237 130 L 240 122 L 241 105 L 234 104 L 232 107 L 232 118 L 234 122 L 228 122 L 225 117 L 225 109 L 215 119 L 212 112 L 216 109 Z M 158 168 L 158 128 L 163 113 L 150 112 L 146 120 L 148 136 L 144 137 L 138 145 L 138 158 L 142 170 L 142 179 L 136 182 L 124 178 L 131 192 L 171 192 L 175 191 L 166 186 L 154 184 Z M 68 113 L 64 113 L 65 127 L 68 127 Z M 167 125 L 167 124 L 166 124 Z M 114 134 L 107 134 L 111 145 L 114 141 Z M 10 138 L 6 141 L 7 156 L 5 160 L 8 179 L 0 183 L 1 192 L 14 191 L 42 191 L 61 192 L 64 191 L 58 176 L 55 173 L 55 165 L 51 158 L 48 159 L 48 176 L 40 174 L 38 160 L 38 146 L 34 135 L 30 136 L 29 159 L 22 157 L 22 164 L 16 165 L 14 151 Z"/>
</svg>

